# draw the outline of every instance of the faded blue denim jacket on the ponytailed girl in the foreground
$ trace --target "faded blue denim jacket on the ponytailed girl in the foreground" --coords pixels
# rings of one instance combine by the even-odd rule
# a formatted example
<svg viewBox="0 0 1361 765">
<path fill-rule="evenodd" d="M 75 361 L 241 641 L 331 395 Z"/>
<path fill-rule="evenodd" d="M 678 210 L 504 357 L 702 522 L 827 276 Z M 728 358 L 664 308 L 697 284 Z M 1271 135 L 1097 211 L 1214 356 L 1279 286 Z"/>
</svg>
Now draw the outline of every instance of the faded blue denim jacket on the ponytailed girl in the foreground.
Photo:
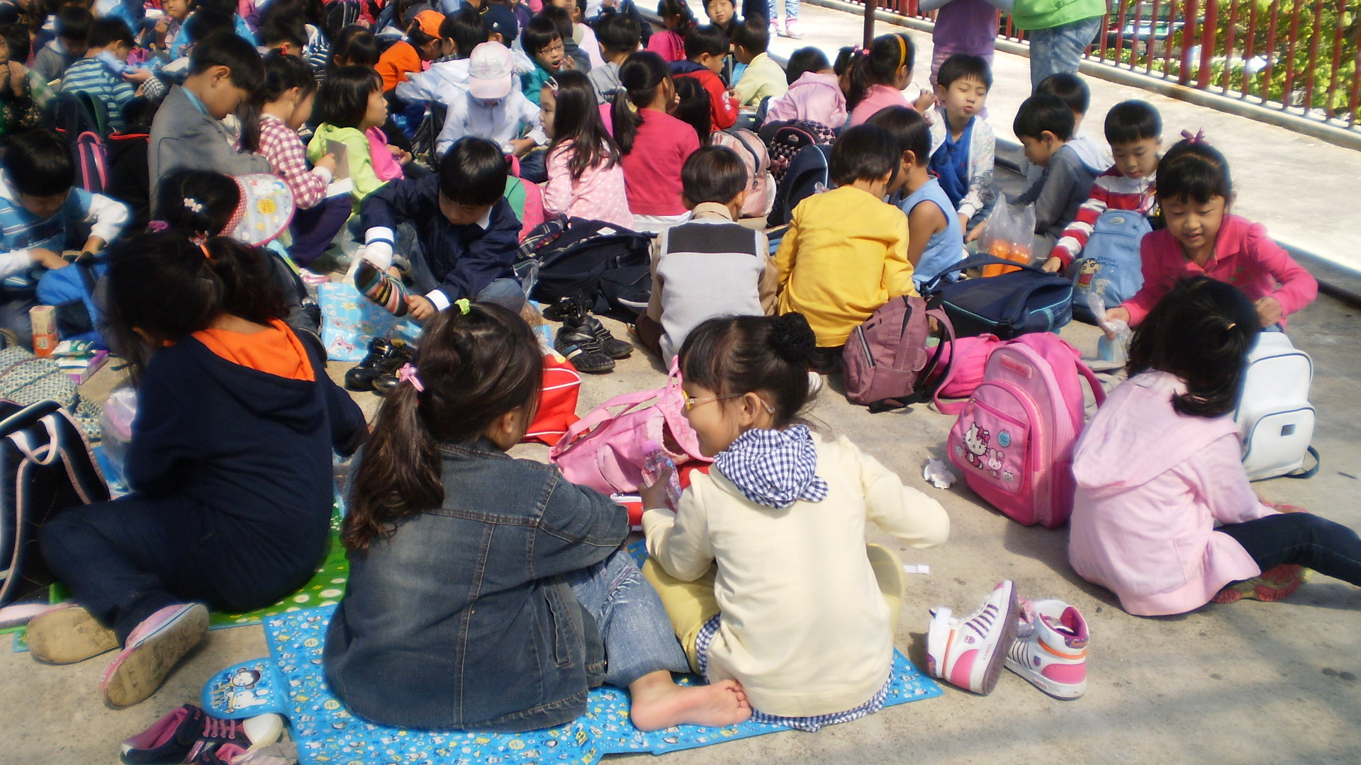
<svg viewBox="0 0 1361 765">
<path fill-rule="evenodd" d="M 618 549 L 627 515 L 490 441 L 440 451 L 444 506 L 350 555 L 327 633 L 331 687 L 388 726 L 527 731 L 580 717 L 604 644 L 563 574 Z"/>
</svg>

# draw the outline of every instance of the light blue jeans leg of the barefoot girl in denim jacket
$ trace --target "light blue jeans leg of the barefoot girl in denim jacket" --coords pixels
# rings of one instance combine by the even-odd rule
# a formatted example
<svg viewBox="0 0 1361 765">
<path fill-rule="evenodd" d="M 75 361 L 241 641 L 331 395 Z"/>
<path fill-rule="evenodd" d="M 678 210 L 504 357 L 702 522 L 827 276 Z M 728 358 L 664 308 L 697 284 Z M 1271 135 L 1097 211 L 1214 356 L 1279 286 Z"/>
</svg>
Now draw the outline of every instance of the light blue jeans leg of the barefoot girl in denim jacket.
<svg viewBox="0 0 1361 765">
<path fill-rule="evenodd" d="M 659 670 L 689 672 L 667 610 L 657 591 L 623 550 L 568 574 L 577 602 L 596 621 L 604 640 L 604 682 L 617 687 Z"/>
</svg>

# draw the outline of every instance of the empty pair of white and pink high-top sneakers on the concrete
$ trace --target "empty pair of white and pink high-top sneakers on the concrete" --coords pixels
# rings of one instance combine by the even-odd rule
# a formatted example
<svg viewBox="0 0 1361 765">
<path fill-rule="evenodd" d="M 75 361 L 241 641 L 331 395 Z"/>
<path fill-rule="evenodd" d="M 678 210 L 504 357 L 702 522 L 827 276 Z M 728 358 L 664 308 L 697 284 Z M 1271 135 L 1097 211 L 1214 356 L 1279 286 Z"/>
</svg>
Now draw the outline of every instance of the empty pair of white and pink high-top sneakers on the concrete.
<svg viewBox="0 0 1361 765">
<path fill-rule="evenodd" d="M 1002 666 L 1044 693 L 1078 698 L 1087 689 L 1087 622 L 1062 600 L 1017 598 L 1003 581 L 972 614 L 954 618 L 932 610 L 927 630 L 927 664 L 932 677 L 987 696 Z"/>
</svg>

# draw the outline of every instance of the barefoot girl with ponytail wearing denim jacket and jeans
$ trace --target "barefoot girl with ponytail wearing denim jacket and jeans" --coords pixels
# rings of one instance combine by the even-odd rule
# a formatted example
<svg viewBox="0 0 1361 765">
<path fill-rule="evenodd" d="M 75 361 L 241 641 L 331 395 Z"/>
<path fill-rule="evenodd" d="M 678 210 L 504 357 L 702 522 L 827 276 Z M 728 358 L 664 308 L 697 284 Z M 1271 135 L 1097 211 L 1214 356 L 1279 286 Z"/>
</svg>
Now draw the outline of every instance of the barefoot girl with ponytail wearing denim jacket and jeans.
<svg viewBox="0 0 1361 765">
<path fill-rule="evenodd" d="M 387 726 L 528 731 L 576 720 L 606 682 L 644 731 L 746 720 L 738 682 L 672 682 L 686 657 L 619 549 L 623 508 L 505 455 L 543 380 L 524 320 L 459 301 L 419 346 L 354 475 L 324 657 L 336 696 Z"/>
</svg>

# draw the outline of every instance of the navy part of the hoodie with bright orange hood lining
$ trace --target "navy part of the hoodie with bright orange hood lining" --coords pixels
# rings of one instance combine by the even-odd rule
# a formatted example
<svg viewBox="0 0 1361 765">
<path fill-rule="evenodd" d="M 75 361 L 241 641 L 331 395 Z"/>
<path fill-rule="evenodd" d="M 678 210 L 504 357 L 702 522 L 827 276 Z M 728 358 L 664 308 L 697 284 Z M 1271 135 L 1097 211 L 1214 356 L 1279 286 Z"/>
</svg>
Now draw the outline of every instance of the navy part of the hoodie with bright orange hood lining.
<svg viewBox="0 0 1361 765">
<path fill-rule="evenodd" d="M 304 346 L 314 381 L 234 363 L 193 338 L 158 351 L 142 376 L 128 485 L 181 500 L 185 523 L 220 539 L 226 558 L 312 565 L 325 550 L 332 449 L 354 453 L 367 429 Z"/>
</svg>

